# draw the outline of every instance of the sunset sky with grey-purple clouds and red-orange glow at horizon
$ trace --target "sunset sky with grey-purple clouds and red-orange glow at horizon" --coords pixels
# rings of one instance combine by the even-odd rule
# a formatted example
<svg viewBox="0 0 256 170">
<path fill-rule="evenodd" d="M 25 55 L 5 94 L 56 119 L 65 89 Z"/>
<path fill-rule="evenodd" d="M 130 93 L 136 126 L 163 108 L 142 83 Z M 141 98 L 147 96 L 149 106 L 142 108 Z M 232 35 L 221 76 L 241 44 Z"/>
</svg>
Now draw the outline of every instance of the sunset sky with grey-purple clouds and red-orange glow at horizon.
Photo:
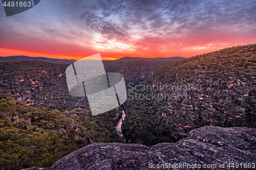
<svg viewBox="0 0 256 170">
<path fill-rule="evenodd" d="M 41 0 L 6 17 L 0 56 L 192 57 L 256 43 L 256 1 Z"/>
</svg>

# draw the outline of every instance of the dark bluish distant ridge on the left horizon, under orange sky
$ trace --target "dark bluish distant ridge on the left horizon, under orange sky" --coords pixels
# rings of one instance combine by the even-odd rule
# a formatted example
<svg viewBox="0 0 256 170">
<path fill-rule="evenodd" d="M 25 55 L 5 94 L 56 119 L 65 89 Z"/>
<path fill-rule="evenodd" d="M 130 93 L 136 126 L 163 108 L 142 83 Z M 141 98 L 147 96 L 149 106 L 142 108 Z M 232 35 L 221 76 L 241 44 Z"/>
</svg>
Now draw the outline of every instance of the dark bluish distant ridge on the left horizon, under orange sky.
<svg viewBox="0 0 256 170">
<path fill-rule="evenodd" d="M 0 62 L 10 62 L 10 61 L 25 61 L 25 60 L 34 60 L 34 61 L 45 61 L 51 63 L 58 63 L 58 64 L 66 64 L 66 63 L 73 63 L 76 60 L 68 60 L 68 59 L 53 59 L 47 57 L 28 57 L 28 56 L 8 56 L 8 57 L 0 57 Z"/>
</svg>

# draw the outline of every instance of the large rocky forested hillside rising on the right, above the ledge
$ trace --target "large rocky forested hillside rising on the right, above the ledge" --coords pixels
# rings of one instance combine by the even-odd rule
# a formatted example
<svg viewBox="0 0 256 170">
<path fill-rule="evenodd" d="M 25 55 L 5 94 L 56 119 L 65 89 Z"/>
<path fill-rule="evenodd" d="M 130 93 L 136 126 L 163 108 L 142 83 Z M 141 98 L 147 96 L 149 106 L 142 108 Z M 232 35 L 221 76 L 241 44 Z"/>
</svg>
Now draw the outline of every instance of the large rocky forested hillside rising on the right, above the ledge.
<svg viewBox="0 0 256 170">
<path fill-rule="evenodd" d="M 256 127 L 255 86 L 256 44 L 167 64 L 128 89 L 123 134 L 152 145 L 205 125 Z"/>
</svg>

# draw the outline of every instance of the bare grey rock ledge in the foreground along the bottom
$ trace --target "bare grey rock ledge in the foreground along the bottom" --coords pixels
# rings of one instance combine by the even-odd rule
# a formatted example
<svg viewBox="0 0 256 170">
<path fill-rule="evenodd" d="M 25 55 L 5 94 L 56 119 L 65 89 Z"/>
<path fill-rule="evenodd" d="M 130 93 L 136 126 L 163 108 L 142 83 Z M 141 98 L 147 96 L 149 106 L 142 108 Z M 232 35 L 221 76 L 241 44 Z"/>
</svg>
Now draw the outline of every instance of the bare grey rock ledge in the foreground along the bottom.
<svg viewBox="0 0 256 170">
<path fill-rule="evenodd" d="M 187 138 L 176 143 L 160 143 L 151 148 L 141 144 L 93 143 L 61 158 L 51 168 L 42 169 L 153 169 L 148 163 L 217 164 L 212 169 L 233 169 L 227 167 L 231 162 L 256 163 L 255 128 L 205 126 L 190 131 Z M 218 167 L 223 163 L 224 168 Z"/>
</svg>

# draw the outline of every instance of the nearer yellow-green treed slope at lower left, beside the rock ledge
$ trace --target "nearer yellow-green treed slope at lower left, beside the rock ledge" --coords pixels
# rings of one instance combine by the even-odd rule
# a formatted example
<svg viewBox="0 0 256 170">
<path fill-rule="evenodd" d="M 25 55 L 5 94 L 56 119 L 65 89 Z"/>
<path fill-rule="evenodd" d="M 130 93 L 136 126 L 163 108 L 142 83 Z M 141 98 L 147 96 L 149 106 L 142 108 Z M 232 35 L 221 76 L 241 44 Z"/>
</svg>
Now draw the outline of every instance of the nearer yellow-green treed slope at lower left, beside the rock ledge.
<svg viewBox="0 0 256 170">
<path fill-rule="evenodd" d="M 0 95 L 1 169 L 49 167 L 90 143 L 123 142 L 115 131 L 117 122 L 111 113 L 36 109 Z"/>
</svg>

